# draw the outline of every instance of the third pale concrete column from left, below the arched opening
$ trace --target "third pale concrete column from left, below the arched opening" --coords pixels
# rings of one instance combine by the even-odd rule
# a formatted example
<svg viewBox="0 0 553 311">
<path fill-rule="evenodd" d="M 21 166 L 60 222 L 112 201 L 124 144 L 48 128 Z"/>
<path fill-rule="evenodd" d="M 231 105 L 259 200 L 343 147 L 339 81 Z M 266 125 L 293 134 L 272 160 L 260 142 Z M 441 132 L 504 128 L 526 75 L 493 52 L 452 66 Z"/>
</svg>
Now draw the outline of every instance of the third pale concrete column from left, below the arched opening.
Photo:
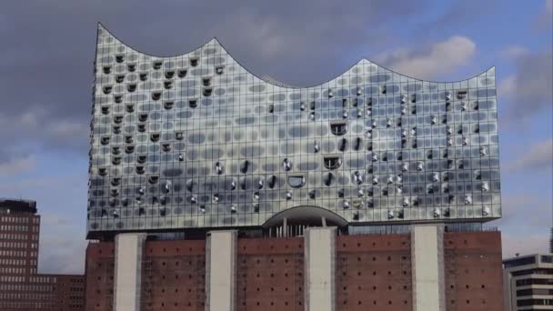
<svg viewBox="0 0 553 311">
<path fill-rule="evenodd" d="M 306 229 L 306 311 L 336 310 L 336 235 L 336 227 Z"/>
</svg>

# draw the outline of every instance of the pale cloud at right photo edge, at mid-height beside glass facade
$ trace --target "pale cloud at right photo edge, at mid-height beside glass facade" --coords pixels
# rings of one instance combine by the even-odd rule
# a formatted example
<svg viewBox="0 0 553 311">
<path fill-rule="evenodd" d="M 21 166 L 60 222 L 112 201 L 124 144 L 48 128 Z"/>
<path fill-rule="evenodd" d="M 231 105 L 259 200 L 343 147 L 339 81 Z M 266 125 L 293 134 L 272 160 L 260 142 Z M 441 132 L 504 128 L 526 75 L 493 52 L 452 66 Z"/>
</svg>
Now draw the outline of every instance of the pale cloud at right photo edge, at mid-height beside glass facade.
<svg viewBox="0 0 553 311">
<path fill-rule="evenodd" d="M 531 145 L 524 154 L 508 163 L 506 171 L 509 173 L 527 169 L 548 169 L 553 166 L 553 139 L 548 139 Z"/>
</svg>

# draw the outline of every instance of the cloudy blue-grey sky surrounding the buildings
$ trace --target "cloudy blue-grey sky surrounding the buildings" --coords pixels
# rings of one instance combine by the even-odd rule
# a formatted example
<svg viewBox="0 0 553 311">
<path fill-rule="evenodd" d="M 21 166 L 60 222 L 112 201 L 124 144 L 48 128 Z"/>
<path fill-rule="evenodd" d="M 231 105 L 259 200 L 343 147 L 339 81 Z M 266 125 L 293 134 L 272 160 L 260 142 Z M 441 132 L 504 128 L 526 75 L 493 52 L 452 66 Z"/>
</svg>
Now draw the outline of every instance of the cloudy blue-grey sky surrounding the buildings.
<svg viewBox="0 0 553 311">
<path fill-rule="evenodd" d="M 553 0 L 19 0 L 0 4 L 0 197 L 37 201 L 39 271 L 83 273 L 100 22 L 150 55 L 216 36 L 256 75 L 317 85 L 361 58 L 432 81 L 496 66 L 503 255 L 553 226 Z M 290 70 L 292 68 L 292 70 Z"/>
</svg>

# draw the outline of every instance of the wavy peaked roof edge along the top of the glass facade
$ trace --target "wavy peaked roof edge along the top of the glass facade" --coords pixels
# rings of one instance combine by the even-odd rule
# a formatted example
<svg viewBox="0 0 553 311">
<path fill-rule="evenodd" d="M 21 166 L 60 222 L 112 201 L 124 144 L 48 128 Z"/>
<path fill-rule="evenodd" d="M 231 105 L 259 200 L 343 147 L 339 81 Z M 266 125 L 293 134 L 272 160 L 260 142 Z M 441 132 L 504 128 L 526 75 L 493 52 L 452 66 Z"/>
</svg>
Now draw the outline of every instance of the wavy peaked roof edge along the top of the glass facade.
<svg viewBox="0 0 553 311">
<path fill-rule="evenodd" d="M 383 65 L 379 65 L 369 59 L 367 59 L 367 57 L 363 57 L 361 58 L 360 60 L 358 60 L 357 62 L 355 62 L 354 64 L 352 65 L 349 65 L 347 67 L 346 70 L 342 71 L 340 74 L 338 75 L 334 75 L 334 77 L 328 79 L 327 81 L 324 81 L 322 83 L 319 83 L 319 84 L 316 84 L 316 85 L 307 85 L 307 86 L 297 86 L 297 85 L 287 85 L 286 82 L 281 82 L 280 80 L 277 80 L 278 82 L 282 83 L 282 84 L 285 84 L 287 86 L 284 86 L 284 85 L 277 85 L 276 83 L 274 82 L 271 82 L 271 81 L 267 81 L 264 77 L 260 76 L 260 75 L 256 75 L 255 73 L 253 73 L 251 70 L 248 69 L 248 67 L 246 67 L 245 65 L 242 65 L 242 63 L 240 63 L 240 61 L 238 61 L 236 59 L 236 57 L 234 57 L 233 55 L 231 55 L 228 50 L 226 49 L 225 45 L 223 45 L 221 43 L 221 41 L 219 41 L 219 39 L 214 36 L 213 38 L 207 40 L 206 42 L 204 42 L 202 45 L 198 45 L 196 48 L 186 52 L 186 53 L 180 53 L 180 54 L 177 54 L 177 55 L 168 55 L 168 56 L 160 56 L 160 55 L 151 55 L 151 54 L 148 54 L 146 52 L 143 52 L 139 49 L 137 49 L 135 46 L 133 45 L 128 45 L 125 41 L 121 40 L 119 37 L 117 37 L 116 35 L 114 35 L 110 30 L 107 29 L 107 27 L 105 25 L 103 25 L 101 22 L 98 22 L 97 23 L 97 30 L 96 30 L 96 38 L 98 36 L 98 33 L 99 33 L 99 30 L 103 29 L 107 34 L 113 36 L 114 38 L 116 38 L 117 41 L 119 41 L 122 45 L 125 45 L 127 48 L 130 48 L 131 50 L 133 50 L 134 52 L 136 53 L 139 53 L 141 55 L 146 55 L 146 56 L 150 56 L 150 57 L 154 57 L 154 58 L 161 58 L 161 59 L 166 59 L 166 58 L 174 58 L 174 57 L 179 57 L 179 56 L 184 56 L 184 55 L 188 55 L 190 53 L 193 53 L 195 52 L 196 50 L 200 49 L 201 47 L 207 45 L 208 43 L 210 43 L 211 41 L 215 40 L 216 43 L 218 45 L 220 45 L 223 50 L 226 52 L 227 55 L 231 56 L 232 59 L 236 62 L 237 65 L 240 65 L 242 68 L 244 68 L 244 70 L 246 70 L 246 72 L 249 74 L 249 75 L 253 75 L 255 76 L 257 79 L 261 80 L 261 81 L 264 81 L 266 84 L 268 85 L 274 85 L 274 86 L 277 86 L 277 87 L 280 87 L 280 88 L 284 88 L 284 89 L 302 89 L 302 88 L 312 88 L 312 87 L 317 87 L 317 86 L 321 86 L 321 85 L 325 85 L 333 80 L 336 80 L 338 77 L 340 77 L 341 75 L 345 75 L 348 71 L 350 71 L 353 67 L 355 67 L 356 65 L 360 64 L 360 63 L 363 63 L 363 62 L 368 62 L 372 65 L 377 65 L 378 67 L 384 69 L 384 70 L 387 70 L 389 73 L 392 73 L 392 74 L 395 74 L 395 75 L 401 75 L 401 76 L 404 76 L 404 77 L 407 77 L 409 79 L 413 79 L 413 80 L 417 80 L 419 82 L 427 82 L 427 83 L 431 83 L 431 84 L 453 84 L 453 83 L 461 83 L 461 82 L 466 82 L 468 80 L 471 80 L 471 79 L 474 79 L 474 78 L 477 78 L 478 76 L 480 75 L 485 75 L 487 74 L 489 71 L 491 71 L 492 69 L 495 69 L 496 68 L 496 65 L 491 65 L 488 67 L 488 69 L 480 72 L 479 74 L 477 75 L 473 75 L 471 77 L 468 77 L 466 79 L 461 79 L 461 80 L 456 80 L 456 81 L 431 81 L 431 80 L 424 80 L 424 79 L 420 79 L 420 78 L 417 78 L 417 77 L 413 77 L 413 76 L 410 76 L 410 75 L 405 75 L 405 74 L 402 74 L 402 73 L 399 73 L 393 69 L 390 69 L 390 68 L 387 68 L 386 66 L 383 66 Z M 97 39 L 96 39 L 96 46 L 97 46 Z M 496 76 L 495 72 L 494 72 L 494 77 Z"/>
</svg>

